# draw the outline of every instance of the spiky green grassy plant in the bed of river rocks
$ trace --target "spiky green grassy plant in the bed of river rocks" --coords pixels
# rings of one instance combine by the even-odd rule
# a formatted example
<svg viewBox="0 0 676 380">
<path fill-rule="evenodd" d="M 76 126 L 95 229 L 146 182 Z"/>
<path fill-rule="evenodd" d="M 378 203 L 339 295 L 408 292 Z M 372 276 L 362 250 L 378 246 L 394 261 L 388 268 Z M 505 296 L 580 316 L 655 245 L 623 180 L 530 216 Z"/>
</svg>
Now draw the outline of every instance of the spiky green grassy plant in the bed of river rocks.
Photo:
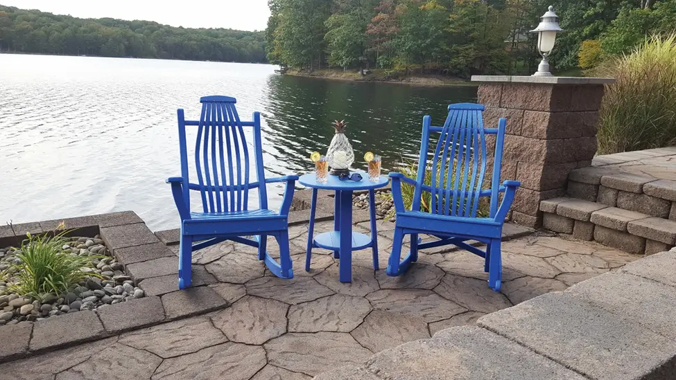
<svg viewBox="0 0 676 380">
<path fill-rule="evenodd" d="M 57 296 L 75 287 L 87 277 L 98 276 L 83 271 L 92 266 L 93 256 L 78 256 L 64 251 L 63 246 L 71 241 L 65 237 L 69 230 L 64 230 L 53 237 L 48 234 L 26 234 L 27 239 L 21 243 L 19 253 L 15 255 L 19 262 L 12 264 L 0 273 L 0 278 L 8 278 L 10 274 L 19 278 L 8 289 L 21 296 L 41 300 L 46 294 Z"/>
</svg>

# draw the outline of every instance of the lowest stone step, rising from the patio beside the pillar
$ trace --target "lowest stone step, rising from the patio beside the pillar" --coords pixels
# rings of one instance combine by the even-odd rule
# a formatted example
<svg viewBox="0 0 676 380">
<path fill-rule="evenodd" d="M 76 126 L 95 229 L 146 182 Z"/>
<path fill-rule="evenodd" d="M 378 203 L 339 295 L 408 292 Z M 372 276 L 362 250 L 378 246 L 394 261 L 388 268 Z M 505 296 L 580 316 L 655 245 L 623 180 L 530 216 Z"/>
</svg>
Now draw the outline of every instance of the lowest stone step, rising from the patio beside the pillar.
<svg viewBox="0 0 676 380">
<path fill-rule="evenodd" d="M 676 245 L 676 221 L 584 199 L 540 202 L 547 230 L 572 235 L 629 253 L 652 255 Z"/>
</svg>

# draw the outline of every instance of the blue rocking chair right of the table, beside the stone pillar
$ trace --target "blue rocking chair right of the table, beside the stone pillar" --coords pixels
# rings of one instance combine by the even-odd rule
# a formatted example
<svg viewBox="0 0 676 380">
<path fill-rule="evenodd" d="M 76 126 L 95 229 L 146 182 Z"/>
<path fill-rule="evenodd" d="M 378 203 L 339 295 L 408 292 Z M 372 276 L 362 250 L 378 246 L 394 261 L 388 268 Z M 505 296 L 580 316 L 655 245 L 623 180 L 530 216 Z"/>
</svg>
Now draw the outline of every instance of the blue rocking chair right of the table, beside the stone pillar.
<svg viewBox="0 0 676 380">
<path fill-rule="evenodd" d="M 506 120 L 501 118 L 497 129 L 483 127 L 483 105 L 461 103 L 449 106 L 449 116 L 443 127 L 431 125 L 429 116 L 422 120 L 422 143 L 415 181 L 401 173 L 390 173 L 392 197 L 397 220 L 394 242 L 388 263 L 388 275 L 401 275 L 417 261 L 418 250 L 454 244 L 485 258 L 484 271 L 488 285 L 499 291 L 502 281 L 500 242 L 507 212 L 512 206 L 519 181 L 505 181 L 499 186 Z M 438 137 L 431 138 L 434 133 Z M 487 165 L 487 135 L 496 135 L 491 187 L 482 190 Z M 430 144 L 436 145 L 432 165 L 428 165 Z M 431 170 L 427 174 L 426 170 Z M 415 188 L 411 210 L 405 210 L 401 183 Z M 421 210 L 423 192 L 425 208 Z M 499 194 L 503 193 L 502 203 Z M 479 216 L 481 198 L 489 197 L 489 215 Z M 438 238 L 422 243 L 418 234 Z M 401 260 L 404 235 L 410 234 L 410 252 Z M 486 251 L 465 243 L 469 239 L 487 244 Z"/>
</svg>

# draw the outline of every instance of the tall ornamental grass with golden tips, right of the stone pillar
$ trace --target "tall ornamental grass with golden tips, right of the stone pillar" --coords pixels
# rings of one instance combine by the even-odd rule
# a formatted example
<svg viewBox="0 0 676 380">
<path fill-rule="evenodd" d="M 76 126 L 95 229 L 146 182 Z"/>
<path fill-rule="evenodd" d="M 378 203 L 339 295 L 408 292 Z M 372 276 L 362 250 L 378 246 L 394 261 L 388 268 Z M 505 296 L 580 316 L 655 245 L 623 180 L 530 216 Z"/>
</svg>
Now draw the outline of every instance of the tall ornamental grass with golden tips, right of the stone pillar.
<svg viewBox="0 0 676 380">
<path fill-rule="evenodd" d="M 676 34 L 650 37 L 597 72 L 616 78 L 600 109 L 599 154 L 676 144 Z"/>
</svg>

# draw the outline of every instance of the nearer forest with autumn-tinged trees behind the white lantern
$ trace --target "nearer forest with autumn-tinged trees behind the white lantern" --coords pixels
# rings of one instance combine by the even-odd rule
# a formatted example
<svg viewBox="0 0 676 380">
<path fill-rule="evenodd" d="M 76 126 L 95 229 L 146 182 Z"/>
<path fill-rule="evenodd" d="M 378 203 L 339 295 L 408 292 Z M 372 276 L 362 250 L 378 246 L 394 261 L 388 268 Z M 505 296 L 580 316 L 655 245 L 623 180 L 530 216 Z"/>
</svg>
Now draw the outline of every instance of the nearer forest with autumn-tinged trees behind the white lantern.
<svg viewBox="0 0 676 380">
<path fill-rule="evenodd" d="M 537 26 L 555 6 L 556 71 L 588 69 L 676 28 L 676 0 L 270 0 L 271 63 L 467 78 L 532 73 Z"/>
</svg>

